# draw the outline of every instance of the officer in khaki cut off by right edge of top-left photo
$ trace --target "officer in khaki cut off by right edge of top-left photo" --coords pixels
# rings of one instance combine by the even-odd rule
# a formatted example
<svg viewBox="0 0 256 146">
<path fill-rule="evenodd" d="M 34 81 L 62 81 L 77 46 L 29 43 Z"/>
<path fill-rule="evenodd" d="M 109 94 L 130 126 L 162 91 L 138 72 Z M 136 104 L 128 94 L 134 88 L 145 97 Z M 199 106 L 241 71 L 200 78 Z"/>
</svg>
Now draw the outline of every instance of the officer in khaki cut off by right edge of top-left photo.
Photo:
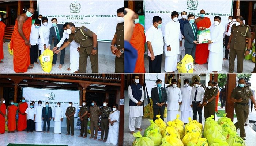
<svg viewBox="0 0 256 146">
<path fill-rule="evenodd" d="M 115 73 L 122 73 L 124 72 L 124 7 L 119 8 L 116 12 L 118 24 L 110 48 L 112 54 L 116 55 Z"/>
</svg>

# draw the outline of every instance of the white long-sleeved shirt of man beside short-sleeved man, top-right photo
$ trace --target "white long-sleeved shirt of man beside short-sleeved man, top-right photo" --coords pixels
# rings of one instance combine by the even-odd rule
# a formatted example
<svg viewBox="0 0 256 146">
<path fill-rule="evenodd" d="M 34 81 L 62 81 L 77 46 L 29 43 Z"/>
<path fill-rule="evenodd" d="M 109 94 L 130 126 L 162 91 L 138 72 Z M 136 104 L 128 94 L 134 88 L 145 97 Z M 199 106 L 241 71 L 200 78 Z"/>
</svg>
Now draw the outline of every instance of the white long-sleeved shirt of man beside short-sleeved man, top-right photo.
<svg viewBox="0 0 256 146">
<path fill-rule="evenodd" d="M 175 56 L 180 54 L 180 23 L 171 20 L 165 25 L 165 56 Z M 171 47 L 171 51 L 167 51 L 167 47 Z"/>
</svg>

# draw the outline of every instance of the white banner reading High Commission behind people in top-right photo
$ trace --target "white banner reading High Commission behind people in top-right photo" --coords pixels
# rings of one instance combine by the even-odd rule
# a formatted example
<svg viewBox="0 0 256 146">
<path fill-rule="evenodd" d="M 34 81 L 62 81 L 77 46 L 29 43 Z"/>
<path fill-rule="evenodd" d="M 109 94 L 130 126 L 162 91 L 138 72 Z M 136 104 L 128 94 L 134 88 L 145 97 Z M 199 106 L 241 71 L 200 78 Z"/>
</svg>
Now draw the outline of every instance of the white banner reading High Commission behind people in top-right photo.
<svg viewBox="0 0 256 146">
<path fill-rule="evenodd" d="M 179 19 L 181 19 L 181 12 L 186 11 L 188 14 L 195 15 L 195 18 L 200 17 L 200 10 L 204 9 L 206 17 L 211 19 L 211 23 L 214 22 L 215 16 L 221 17 L 221 24 L 225 26 L 228 23 L 228 17 L 233 14 L 233 1 L 218 0 L 218 1 L 197 1 L 197 0 L 173 0 L 173 1 L 144 1 L 145 6 L 145 30 L 152 25 L 152 19 L 154 16 L 161 17 L 162 27 L 161 30 L 164 35 L 165 24 L 171 21 L 172 11 L 179 13 Z"/>
</svg>

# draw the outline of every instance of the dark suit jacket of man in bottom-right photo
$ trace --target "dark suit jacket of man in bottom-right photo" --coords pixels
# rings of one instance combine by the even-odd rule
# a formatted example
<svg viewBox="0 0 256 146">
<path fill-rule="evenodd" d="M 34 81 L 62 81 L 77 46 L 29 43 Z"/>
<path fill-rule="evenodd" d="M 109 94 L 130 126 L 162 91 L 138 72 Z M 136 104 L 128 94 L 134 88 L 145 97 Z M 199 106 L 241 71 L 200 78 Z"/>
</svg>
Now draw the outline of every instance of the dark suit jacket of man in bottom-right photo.
<svg viewBox="0 0 256 146">
<path fill-rule="evenodd" d="M 160 101 L 159 99 L 159 94 L 158 94 L 158 88 L 152 88 L 151 89 L 151 99 L 153 101 L 153 108 L 159 108 L 157 103 L 163 103 L 167 101 L 167 94 L 165 88 L 161 87 L 161 93 L 162 93 L 162 100 Z"/>
</svg>

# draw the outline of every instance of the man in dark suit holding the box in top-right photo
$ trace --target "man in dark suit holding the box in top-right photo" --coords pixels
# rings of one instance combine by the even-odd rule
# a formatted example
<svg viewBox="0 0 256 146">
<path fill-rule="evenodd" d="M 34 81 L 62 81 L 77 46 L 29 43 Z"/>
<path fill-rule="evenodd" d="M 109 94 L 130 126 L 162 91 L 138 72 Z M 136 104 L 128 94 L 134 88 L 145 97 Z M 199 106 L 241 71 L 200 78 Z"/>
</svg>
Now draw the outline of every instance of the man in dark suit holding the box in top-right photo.
<svg viewBox="0 0 256 146">
<path fill-rule="evenodd" d="M 197 43 L 197 27 L 195 22 L 195 16 L 193 14 L 188 15 L 189 23 L 184 24 L 183 32 L 185 36 L 185 55 L 189 54 L 195 60 L 196 44 Z"/>
</svg>

